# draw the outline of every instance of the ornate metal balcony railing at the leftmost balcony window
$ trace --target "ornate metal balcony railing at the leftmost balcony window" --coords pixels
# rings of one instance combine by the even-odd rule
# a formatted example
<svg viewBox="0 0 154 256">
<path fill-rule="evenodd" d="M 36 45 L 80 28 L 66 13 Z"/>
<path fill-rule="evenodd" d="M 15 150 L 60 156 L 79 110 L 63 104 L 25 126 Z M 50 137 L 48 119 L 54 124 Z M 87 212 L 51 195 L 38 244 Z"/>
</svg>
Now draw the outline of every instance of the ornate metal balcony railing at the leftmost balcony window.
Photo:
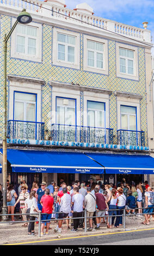
<svg viewBox="0 0 154 256">
<path fill-rule="evenodd" d="M 24 139 L 44 139 L 45 123 L 8 120 L 8 137 Z"/>
</svg>

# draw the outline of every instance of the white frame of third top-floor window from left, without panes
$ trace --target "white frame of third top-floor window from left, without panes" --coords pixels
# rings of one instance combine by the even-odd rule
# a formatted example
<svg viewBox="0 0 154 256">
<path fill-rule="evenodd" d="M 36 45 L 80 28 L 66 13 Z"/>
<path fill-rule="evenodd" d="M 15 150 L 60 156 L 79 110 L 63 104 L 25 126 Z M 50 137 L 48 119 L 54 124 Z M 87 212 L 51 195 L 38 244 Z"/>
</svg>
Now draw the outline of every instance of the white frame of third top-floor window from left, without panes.
<svg viewBox="0 0 154 256">
<path fill-rule="evenodd" d="M 96 66 L 88 66 L 88 47 L 87 41 L 94 41 L 103 44 L 103 52 L 97 50 L 91 50 L 98 53 L 103 53 L 103 68 L 97 68 Z M 95 36 L 83 35 L 83 70 L 96 72 L 99 74 L 108 75 L 108 40 L 102 38 L 96 38 Z M 90 50 L 89 50 L 90 51 Z"/>
</svg>

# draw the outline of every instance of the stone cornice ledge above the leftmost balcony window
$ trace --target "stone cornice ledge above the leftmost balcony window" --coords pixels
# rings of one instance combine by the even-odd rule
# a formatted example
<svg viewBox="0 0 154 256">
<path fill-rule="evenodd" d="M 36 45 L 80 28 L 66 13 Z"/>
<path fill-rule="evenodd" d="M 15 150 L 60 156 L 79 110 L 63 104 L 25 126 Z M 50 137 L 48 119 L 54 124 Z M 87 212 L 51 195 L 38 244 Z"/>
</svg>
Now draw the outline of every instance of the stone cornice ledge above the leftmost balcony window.
<svg viewBox="0 0 154 256">
<path fill-rule="evenodd" d="M 45 81 L 39 78 L 32 78 L 32 77 L 23 77 L 23 76 L 15 76 L 15 75 L 8 75 L 7 76 L 9 81 L 21 82 L 21 83 L 32 83 L 32 84 L 39 84 L 44 85 Z"/>
</svg>

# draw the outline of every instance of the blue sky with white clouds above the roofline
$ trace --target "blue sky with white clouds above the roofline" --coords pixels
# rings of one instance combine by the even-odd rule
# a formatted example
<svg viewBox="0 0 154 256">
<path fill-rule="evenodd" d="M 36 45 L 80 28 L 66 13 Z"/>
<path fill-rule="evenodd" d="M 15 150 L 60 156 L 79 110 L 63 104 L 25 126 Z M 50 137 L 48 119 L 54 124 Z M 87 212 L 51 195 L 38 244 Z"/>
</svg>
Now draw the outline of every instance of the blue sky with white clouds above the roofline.
<svg viewBox="0 0 154 256">
<path fill-rule="evenodd" d="M 94 16 L 139 28 L 143 28 L 142 22 L 149 22 L 147 29 L 151 31 L 154 43 L 154 0 L 65 0 L 69 9 L 84 2 L 93 8 Z"/>
</svg>

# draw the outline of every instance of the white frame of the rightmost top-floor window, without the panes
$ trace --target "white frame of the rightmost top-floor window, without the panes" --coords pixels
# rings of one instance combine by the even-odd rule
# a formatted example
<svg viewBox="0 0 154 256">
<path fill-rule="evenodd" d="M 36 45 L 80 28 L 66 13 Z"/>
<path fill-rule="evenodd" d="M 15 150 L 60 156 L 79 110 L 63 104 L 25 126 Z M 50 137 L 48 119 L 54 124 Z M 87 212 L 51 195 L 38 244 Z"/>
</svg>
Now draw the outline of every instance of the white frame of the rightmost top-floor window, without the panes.
<svg viewBox="0 0 154 256">
<path fill-rule="evenodd" d="M 120 48 L 124 48 L 125 50 L 130 50 L 134 52 L 134 58 L 130 57 L 123 57 L 120 56 L 119 50 Z M 126 73 L 120 72 L 120 58 L 126 59 Z M 128 74 L 128 66 L 127 62 L 128 59 L 133 60 L 133 74 Z M 134 47 L 131 45 L 126 44 L 120 44 L 119 42 L 116 42 L 116 76 L 122 77 L 122 78 L 128 78 L 132 80 L 139 80 L 139 74 L 138 74 L 138 47 Z"/>
</svg>

